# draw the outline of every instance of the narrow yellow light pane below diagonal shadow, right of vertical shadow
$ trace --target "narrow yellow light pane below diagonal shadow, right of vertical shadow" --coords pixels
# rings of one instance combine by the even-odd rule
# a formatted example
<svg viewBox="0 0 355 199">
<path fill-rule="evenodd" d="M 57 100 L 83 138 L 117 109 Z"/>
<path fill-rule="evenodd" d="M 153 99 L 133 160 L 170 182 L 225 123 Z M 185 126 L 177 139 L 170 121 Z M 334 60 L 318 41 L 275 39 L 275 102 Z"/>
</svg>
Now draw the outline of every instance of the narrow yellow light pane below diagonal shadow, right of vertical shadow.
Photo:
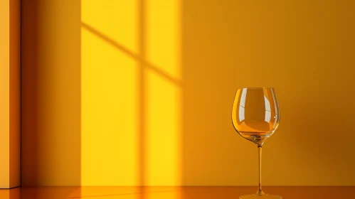
<svg viewBox="0 0 355 199">
<path fill-rule="evenodd" d="M 154 72 L 147 85 L 147 184 L 179 185 L 181 91 Z"/>
</svg>

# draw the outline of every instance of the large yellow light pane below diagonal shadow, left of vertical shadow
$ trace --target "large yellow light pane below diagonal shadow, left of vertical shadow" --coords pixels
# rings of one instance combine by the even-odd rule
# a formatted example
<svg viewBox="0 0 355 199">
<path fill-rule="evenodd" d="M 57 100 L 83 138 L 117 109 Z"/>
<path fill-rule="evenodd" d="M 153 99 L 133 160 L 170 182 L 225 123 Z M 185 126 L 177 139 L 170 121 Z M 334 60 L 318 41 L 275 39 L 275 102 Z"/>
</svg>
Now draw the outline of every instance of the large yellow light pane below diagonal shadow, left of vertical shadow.
<svg viewBox="0 0 355 199">
<path fill-rule="evenodd" d="M 82 185 L 137 183 L 137 64 L 82 29 Z"/>
</svg>

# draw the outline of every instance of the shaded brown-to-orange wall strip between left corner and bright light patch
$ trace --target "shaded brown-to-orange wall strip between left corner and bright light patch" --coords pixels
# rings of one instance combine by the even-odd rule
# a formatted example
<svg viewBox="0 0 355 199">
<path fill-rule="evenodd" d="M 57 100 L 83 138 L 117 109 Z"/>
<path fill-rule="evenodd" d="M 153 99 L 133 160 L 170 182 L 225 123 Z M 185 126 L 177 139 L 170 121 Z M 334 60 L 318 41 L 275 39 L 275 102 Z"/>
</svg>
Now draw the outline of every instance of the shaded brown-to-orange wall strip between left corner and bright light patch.
<svg viewBox="0 0 355 199">
<path fill-rule="evenodd" d="M 80 1 L 21 1 L 22 185 L 80 185 Z"/>
</svg>

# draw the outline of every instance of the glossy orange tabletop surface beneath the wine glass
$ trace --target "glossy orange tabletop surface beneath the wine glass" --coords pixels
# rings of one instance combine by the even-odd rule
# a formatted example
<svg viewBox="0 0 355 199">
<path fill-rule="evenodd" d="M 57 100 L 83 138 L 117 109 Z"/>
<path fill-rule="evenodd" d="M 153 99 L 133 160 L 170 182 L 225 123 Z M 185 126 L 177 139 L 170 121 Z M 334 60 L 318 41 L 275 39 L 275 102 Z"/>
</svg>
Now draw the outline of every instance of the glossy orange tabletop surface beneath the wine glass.
<svg viewBox="0 0 355 199">
<path fill-rule="evenodd" d="M 236 199 L 256 187 L 22 187 L 0 190 L 1 199 Z M 355 198 L 355 186 L 270 186 L 265 193 L 282 198 Z"/>
</svg>

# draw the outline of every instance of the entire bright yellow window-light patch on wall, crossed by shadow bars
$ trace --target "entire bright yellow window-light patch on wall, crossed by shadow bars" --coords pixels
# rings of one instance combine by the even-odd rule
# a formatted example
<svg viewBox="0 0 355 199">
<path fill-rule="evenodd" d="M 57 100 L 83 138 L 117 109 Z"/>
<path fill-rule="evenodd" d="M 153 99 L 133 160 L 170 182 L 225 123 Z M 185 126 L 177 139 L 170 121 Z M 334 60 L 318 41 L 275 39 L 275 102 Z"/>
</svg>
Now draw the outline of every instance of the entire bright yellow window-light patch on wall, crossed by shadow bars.
<svg viewBox="0 0 355 199">
<path fill-rule="evenodd" d="M 136 3 L 82 1 L 82 185 L 180 185 L 179 0 Z"/>
</svg>

